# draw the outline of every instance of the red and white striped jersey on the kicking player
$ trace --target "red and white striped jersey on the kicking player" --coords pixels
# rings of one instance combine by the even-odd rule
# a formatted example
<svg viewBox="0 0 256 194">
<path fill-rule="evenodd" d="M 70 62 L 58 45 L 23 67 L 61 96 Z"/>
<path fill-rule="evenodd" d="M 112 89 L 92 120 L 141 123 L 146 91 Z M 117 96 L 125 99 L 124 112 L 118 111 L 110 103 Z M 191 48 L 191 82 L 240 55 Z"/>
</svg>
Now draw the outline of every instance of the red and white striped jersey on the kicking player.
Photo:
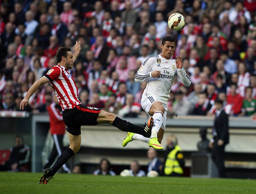
<svg viewBox="0 0 256 194">
<path fill-rule="evenodd" d="M 78 99 L 78 90 L 75 81 L 65 67 L 56 65 L 44 77 L 50 81 L 54 88 L 54 92 L 63 111 L 81 104 Z"/>
</svg>

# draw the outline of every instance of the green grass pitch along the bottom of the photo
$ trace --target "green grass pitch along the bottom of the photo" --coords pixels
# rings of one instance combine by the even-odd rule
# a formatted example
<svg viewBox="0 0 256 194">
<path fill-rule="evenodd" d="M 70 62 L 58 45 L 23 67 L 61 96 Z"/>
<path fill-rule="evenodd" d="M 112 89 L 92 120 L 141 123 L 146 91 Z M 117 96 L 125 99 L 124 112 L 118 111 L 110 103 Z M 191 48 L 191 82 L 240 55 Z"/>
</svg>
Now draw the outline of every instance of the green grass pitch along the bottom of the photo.
<svg viewBox="0 0 256 194">
<path fill-rule="evenodd" d="M 0 173 L 0 193 L 256 193 L 256 180 L 120 177 L 56 174 L 39 185 L 43 173 Z"/>
</svg>

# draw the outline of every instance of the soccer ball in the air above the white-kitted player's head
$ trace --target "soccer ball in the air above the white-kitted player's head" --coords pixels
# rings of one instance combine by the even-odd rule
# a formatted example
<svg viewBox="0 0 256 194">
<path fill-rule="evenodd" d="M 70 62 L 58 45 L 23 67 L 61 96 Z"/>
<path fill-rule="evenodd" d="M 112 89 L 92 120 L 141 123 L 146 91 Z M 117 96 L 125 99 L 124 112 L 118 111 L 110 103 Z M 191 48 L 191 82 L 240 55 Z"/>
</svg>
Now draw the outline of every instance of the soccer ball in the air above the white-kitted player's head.
<svg viewBox="0 0 256 194">
<path fill-rule="evenodd" d="M 168 26 L 171 30 L 179 31 L 184 28 L 186 20 L 183 15 L 174 13 L 168 18 Z"/>
</svg>

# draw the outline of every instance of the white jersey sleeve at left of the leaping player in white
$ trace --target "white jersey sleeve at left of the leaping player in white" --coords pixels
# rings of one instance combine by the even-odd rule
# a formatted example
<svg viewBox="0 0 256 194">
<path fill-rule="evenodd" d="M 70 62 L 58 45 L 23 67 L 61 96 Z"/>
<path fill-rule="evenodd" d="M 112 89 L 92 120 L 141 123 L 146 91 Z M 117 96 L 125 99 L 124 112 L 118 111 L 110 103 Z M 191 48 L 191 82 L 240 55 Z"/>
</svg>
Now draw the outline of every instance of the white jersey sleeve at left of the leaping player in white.
<svg viewBox="0 0 256 194">
<path fill-rule="evenodd" d="M 141 65 L 141 67 L 139 67 L 138 71 L 136 72 L 135 81 L 143 82 L 152 78 L 151 70 L 152 70 L 151 60 L 149 57 L 147 57 L 144 60 L 144 63 Z"/>
</svg>

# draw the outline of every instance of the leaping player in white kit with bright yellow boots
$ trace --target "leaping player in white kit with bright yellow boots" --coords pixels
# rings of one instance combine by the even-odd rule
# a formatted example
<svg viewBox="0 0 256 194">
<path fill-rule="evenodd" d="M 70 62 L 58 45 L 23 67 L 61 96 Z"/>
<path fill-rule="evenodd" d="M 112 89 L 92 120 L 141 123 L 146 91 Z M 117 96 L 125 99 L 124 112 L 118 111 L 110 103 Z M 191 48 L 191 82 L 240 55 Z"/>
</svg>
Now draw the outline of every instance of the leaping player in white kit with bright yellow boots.
<svg viewBox="0 0 256 194">
<path fill-rule="evenodd" d="M 184 86 L 190 86 L 190 77 L 186 74 L 182 59 L 171 58 L 176 47 L 176 41 L 173 37 L 162 39 L 162 53 L 157 56 L 147 57 L 135 75 L 136 82 L 147 81 L 147 87 L 142 95 L 142 107 L 144 111 L 153 116 L 154 125 L 150 138 L 142 135 L 127 132 L 123 140 L 123 147 L 132 140 L 147 142 L 149 147 L 162 150 L 161 140 L 166 128 L 167 101 L 171 85 L 176 76 L 181 80 Z"/>
</svg>

